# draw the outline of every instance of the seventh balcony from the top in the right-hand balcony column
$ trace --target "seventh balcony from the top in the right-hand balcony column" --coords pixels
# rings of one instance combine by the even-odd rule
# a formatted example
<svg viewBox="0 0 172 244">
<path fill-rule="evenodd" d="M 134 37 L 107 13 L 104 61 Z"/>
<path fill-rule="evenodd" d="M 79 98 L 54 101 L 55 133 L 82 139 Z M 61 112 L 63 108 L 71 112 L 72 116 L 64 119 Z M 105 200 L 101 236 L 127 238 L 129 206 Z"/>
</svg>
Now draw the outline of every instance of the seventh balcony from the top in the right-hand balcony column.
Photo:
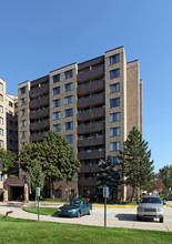
<svg viewBox="0 0 172 244">
<path fill-rule="evenodd" d="M 105 151 L 95 151 L 92 152 L 80 152 L 78 153 L 79 160 L 94 160 L 94 159 L 104 159 L 105 157 Z"/>
</svg>

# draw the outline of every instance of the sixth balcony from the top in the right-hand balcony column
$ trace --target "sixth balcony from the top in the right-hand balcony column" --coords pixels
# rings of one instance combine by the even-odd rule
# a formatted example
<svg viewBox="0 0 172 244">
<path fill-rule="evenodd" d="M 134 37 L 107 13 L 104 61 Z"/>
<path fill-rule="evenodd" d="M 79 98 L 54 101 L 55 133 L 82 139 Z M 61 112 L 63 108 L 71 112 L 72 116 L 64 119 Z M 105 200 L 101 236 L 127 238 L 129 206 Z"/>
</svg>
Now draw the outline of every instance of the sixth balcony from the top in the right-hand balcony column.
<svg viewBox="0 0 172 244">
<path fill-rule="evenodd" d="M 91 146 L 91 145 L 104 145 L 105 140 L 102 138 L 93 138 L 93 139 L 82 139 L 78 141 L 78 148 L 82 146 Z"/>
</svg>

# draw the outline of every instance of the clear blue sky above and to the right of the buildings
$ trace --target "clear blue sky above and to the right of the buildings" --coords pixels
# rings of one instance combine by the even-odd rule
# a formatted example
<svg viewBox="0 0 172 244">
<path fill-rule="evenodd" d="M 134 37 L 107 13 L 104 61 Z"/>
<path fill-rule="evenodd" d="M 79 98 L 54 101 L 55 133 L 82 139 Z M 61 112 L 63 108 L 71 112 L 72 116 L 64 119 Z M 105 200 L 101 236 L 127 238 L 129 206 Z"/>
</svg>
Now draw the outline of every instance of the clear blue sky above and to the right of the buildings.
<svg viewBox="0 0 172 244">
<path fill-rule="evenodd" d="M 124 45 L 143 79 L 143 138 L 155 172 L 172 164 L 171 0 L 0 0 L 0 77 L 7 92 Z"/>
</svg>

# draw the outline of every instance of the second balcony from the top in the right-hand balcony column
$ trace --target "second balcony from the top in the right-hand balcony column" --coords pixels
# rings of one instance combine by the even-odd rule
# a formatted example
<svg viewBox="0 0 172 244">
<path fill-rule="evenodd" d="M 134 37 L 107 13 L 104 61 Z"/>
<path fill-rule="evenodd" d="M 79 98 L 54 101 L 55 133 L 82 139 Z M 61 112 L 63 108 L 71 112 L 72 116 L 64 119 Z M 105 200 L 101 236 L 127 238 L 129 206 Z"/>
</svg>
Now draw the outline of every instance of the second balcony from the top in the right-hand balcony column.
<svg viewBox="0 0 172 244">
<path fill-rule="evenodd" d="M 104 80 L 93 81 L 78 87 L 78 95 L 84 95 L 89 92 L 99 92 L 104 90 Z"/>
</svg>

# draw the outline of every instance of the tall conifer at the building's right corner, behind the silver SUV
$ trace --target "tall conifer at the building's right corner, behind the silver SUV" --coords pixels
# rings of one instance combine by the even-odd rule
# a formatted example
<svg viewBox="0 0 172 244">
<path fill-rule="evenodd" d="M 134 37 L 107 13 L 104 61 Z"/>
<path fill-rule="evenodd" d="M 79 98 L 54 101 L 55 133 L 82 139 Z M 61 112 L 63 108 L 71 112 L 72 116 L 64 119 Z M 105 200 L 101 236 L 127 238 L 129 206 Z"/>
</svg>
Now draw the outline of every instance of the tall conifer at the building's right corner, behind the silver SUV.
<svg viewBox="0 0 172 244">
<path fill-rule="evenodd" d="M 132 186 L 131 201 L 134 201 L 135 190 L 148 190 L 154 179 L 153 161 L 148 142 L 142 139 L 141 132 L 134 126 L 120 151 L 119 159 L 122 166 L 123 183 Z"/>
</svg>

